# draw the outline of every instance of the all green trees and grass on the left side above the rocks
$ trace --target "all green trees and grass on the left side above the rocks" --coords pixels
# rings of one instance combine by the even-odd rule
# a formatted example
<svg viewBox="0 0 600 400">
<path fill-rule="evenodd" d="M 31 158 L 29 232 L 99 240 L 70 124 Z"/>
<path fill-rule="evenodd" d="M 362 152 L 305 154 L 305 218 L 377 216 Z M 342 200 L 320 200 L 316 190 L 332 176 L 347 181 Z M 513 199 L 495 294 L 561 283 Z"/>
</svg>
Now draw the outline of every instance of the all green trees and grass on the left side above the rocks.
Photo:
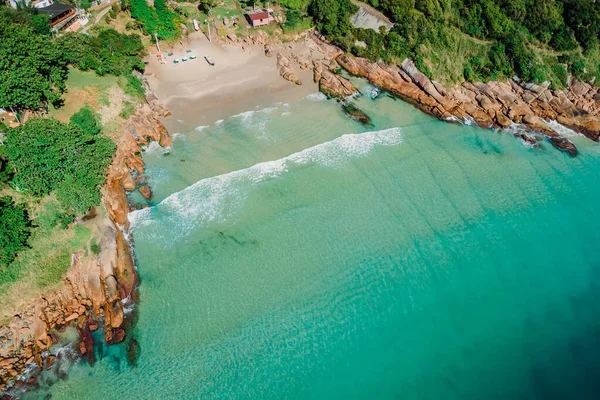
<svg viewBox="0 0 600 400">
<path fill-rule="evenodd" d="M 165 2 L 155 5 L 161 32 L 178 34 Z M 113 6 L 109 18 L 118 11 Z M 0 107 L 60 119 L 34 113 L 17 128 L 0 126 L 0 296 L 17 290 L 17 281 L 34 292 L 53 284 L 72 252 L 98 251 L 92 230 L 73 224 L 100 203 L 115 151 L 94 108 L 108 106 L 117 84 L 133 98 L 145 95 L 133 74 L 144 69 L 139 35 L 96 26 L 90 34 L 54 37 L 48 22 L 35 9 L 0 6 Z M 121 116 L 135 109 L 124 102 Z"/>
</svg>

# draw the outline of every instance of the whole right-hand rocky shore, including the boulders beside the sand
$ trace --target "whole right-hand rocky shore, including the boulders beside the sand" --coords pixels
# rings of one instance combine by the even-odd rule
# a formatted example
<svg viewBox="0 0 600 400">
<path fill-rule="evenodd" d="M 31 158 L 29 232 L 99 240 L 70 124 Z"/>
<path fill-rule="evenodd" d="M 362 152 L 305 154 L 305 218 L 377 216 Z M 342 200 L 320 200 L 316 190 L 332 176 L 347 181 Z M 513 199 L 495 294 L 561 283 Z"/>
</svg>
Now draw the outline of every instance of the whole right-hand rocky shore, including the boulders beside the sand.
<svg viewBox="0 0 600 400">
<path fill-rule="evenodd" d="M 545 138 L 569 155 L 577 155 L 575 145 L 549 124 L 550 121 L 596 142 L 600 137 L 600 89 L 573 77 L 569 78 L 566 90 L 550 89 L 550 82 L 536 85 L 521 82 L 516 77 L 488 83 L 464 82 L 446 88 L 419 71 L 410 59 L 400 65 L 373 63 L 345 54 L 316 33 L 299 35 L 294 41 L 302 45 L 288 45 L 289 57 L 277 54 L 278 60 L 285 61 L 278 62 L 280 75 L 300 84 L 295 67 L 312 66 L 315 83 L 330 98 L 347 99 L 357 92 L 350 81 L 337 73 L 343 68 L 440 120 L 476 124 L 487 129 L 523 126 L 526 129 L 512 132 L 533 147 L 539 147 Z M 274 43 L 278 42 L 269 42 L 264 35 L 257 35 L 241 43 L 263 45 L 265 54 L 272 56 L 276 52 Z"/>
</svg>

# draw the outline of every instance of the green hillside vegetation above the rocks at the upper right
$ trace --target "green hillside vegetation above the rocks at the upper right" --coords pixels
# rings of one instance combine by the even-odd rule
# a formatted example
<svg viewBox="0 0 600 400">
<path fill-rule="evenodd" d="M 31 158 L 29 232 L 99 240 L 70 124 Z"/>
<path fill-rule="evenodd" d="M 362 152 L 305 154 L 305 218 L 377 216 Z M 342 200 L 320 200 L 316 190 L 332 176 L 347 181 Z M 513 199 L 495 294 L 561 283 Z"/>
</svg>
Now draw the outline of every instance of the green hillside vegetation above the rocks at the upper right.
<svg viewBox="0 0 600 400">
<path fill-rule="evenodd" d="M 302 10 L 301 0 L 288 2 Z M 564 87 L 568 73 L 587 79 L 600 69 L 600 3 L 593 0 L 368 2 L 395 23 L 390 32 L 350 25 L 357 8 L 349 0 L 312 0 L 307 11 L 319 31 L 346 51 L 373 61 L 410 57 L 424 73 L 447 82 L 518 75 Z"/>
</svg>

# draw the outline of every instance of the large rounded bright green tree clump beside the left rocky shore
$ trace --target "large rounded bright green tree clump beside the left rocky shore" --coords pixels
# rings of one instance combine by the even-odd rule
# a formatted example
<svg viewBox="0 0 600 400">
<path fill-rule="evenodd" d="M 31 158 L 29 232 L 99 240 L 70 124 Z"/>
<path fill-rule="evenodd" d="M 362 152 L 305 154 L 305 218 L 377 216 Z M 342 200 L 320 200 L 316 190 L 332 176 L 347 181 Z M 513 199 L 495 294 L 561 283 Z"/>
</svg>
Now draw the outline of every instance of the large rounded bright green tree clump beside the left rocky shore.
<svg viewBox="0 0 600 400">
<path fill-rule="evenodd" d="M 82 110 L 72 122 L 35 118 L 9 130 L 4 152 L 14 171 L 12 184 L 33 195 L 56 195 L 72 214 L 100 201 L 99 186 L 114 153 L 114 143 L 99 135 L 94 116 Z"/>
</svg>

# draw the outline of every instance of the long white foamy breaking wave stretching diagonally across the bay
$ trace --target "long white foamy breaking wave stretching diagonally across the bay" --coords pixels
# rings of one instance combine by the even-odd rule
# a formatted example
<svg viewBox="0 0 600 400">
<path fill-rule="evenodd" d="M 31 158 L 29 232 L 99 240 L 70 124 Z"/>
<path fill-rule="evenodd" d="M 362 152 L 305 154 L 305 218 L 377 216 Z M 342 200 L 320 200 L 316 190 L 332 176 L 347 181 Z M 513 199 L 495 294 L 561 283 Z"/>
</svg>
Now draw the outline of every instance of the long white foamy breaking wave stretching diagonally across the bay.
<svg viewBox="0 0 600 400">
<path fill-rule="evenodd" d="M 152 212 L 157 207 L 161 212 L 176 218 L 176 229 L 185 234 L 197 224 L 229 220 L 242 207 L 249 185 L 278 177 L 290 167 L 310 163 L 335 167 L 352 157 L 367 154 L 374 147 L 400 143 L 400 128 L 342 135 L 279 160 L 202 179 L 167 197 L 158 206 L 130 213 L 129 221 L 132 227 L 151 224 Z"/>
</svg>

